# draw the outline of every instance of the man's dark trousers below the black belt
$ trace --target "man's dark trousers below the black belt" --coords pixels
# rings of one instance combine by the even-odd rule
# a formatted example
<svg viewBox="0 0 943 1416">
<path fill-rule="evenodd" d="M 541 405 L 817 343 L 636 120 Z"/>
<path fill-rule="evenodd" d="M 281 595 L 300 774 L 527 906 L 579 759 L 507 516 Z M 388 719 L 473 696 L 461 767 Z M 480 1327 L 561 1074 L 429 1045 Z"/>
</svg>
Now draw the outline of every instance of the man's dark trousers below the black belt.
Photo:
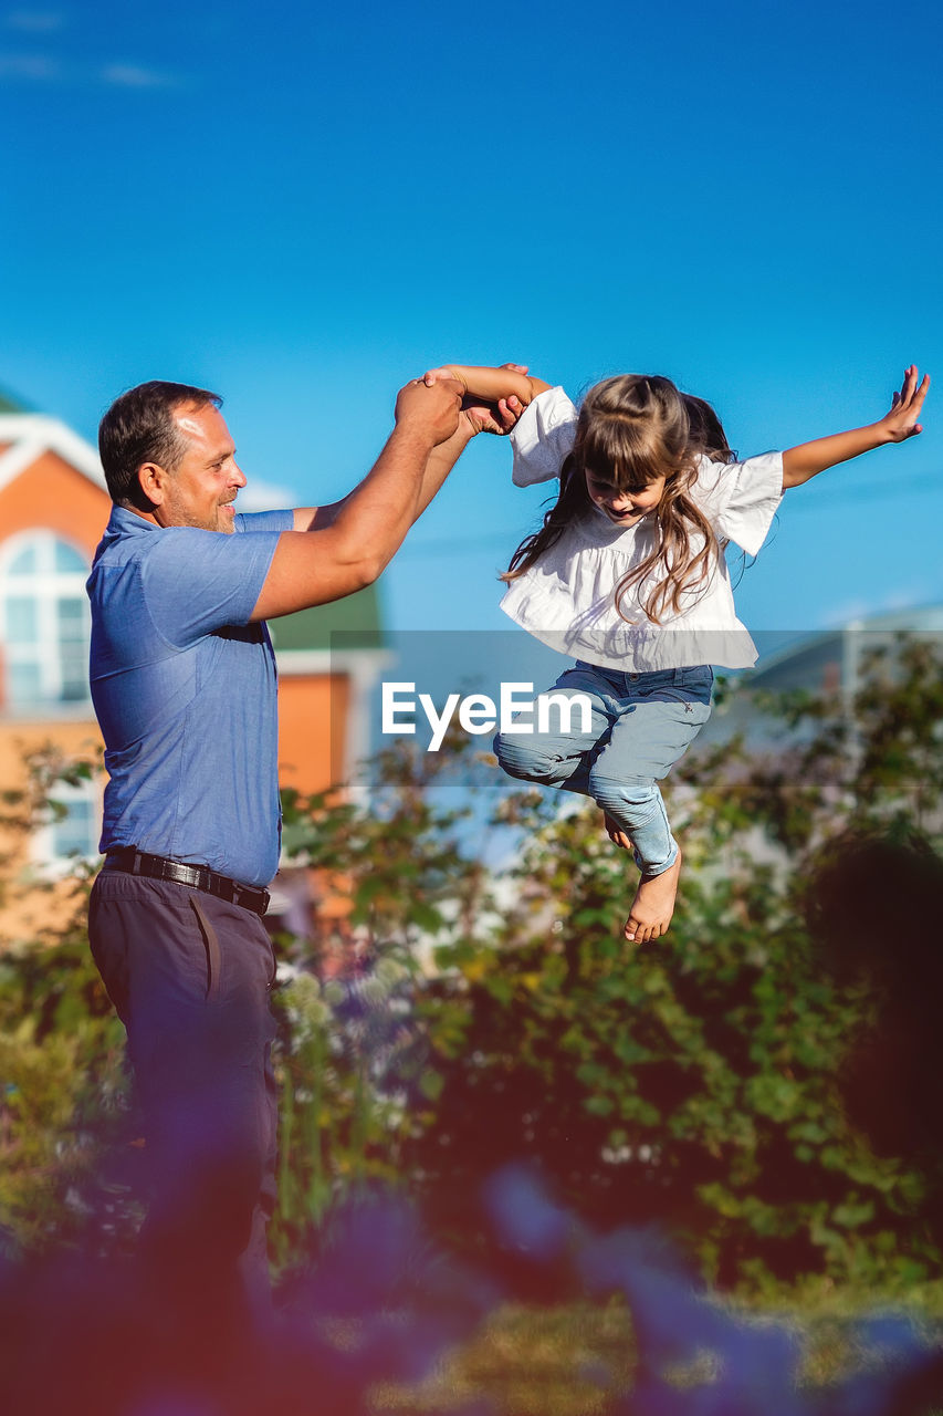
<svg viewBox="0 0 943 1416">
<path fill-rule="evenodd" d="M 262 919 L 176 881 L 103 869 L 89 939 L 127 1029 L 152 1202 L 142 1259 L 195 1304 L 268 1296 L 278 1109 Z"/>
</svg>

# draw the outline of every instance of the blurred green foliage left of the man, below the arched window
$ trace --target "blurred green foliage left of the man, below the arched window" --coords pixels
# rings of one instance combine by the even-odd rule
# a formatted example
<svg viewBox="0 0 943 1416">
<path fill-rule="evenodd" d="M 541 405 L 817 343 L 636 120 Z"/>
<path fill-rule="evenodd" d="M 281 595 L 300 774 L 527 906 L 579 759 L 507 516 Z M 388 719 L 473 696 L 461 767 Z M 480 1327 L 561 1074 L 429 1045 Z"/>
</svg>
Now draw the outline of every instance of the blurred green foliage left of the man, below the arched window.
<svg viewBox="0 0 943 1416">
<path fill-rule="evenodd" d="M 136 1216 L 103 1164 L 130 1138 L 125 1032 L 88 949 L 91 871 L 76 861 L 65 878 L 24 881 L 14 865 L 25 837 L 65 814 L 57 792 L 102 767 L 51 743 L 24 767 L 23 784 L 0 796 L 0 902 L 24 889 L 33 903 L 45 895 L 50 923 L 42 937 L 0 952 L 0 1232 L 13 1249 L 38 1250 L 85 1235 L 92 1219 L 102 1242 L 125 1242 Z"/>
</svg>

